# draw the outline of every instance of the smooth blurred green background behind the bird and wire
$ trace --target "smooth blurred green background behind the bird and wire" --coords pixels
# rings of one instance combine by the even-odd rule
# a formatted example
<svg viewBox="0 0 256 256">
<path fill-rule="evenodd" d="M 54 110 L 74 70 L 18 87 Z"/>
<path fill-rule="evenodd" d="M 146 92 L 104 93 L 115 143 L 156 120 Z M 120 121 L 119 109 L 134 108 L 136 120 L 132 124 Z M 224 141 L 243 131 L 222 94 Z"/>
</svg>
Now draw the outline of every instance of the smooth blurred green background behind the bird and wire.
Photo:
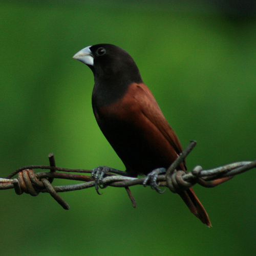
<svg viewBox="0 0 256 256">
<path fill-rule="evenodd" d="M 227 1 L 228 2 L 228 1 Z M 72 56 L 102 42 L 135 59 L 182 145 L 188 169 L 255 159 L 255 6 L 222 1 L 1 1 L 1 174 L 18 167 L 123 169 L 91 108 L 93 74 Z M 244 8 L 244 9 L 243 9 Z M 195 186 L 212 228 L 170 191 L 108 187 L 48 194 L 1 191 L 1 255 L 255 255 L 255 170 Z M 54 185 L 70 184 L 55 180 Z"/>
</svg>

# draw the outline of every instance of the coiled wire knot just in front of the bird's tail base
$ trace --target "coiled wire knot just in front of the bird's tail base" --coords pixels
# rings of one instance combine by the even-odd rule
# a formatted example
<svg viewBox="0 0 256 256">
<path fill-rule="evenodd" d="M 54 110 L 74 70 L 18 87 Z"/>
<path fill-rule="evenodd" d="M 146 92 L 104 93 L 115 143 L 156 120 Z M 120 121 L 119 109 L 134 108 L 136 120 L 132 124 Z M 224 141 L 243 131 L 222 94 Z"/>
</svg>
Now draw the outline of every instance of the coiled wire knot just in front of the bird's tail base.
<svg viewBox="0 0 256 256">
<path fill-rule="evenodd" d="M 194 176 L 194 179 L 185 181 L 183 176 L 186 175 L 184 170 L 174 170 L 170 175 L 166 176 L 167 186 L 173 193 L 180 193 L 187 188 L 194 186 L 197 183 L 198 178 Z"/>
</svg>

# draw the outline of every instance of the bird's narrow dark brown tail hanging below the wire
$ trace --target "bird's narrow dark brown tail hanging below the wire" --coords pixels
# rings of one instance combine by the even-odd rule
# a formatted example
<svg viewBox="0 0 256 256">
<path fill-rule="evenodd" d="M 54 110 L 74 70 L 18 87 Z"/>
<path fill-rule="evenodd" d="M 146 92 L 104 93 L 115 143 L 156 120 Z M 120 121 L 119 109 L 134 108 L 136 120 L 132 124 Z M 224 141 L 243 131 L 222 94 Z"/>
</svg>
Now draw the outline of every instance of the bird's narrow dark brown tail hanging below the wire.
<svg viewBox="0 0 256 256">
<path fill-rule="evenodd" d="M 193 188 L 189 188 L 179 193 L 182 200 L 185 202 L 189 210 L 206 226 L 211 227 L 210 219 L 203 205 L 196 196 Z"/>
</svg>

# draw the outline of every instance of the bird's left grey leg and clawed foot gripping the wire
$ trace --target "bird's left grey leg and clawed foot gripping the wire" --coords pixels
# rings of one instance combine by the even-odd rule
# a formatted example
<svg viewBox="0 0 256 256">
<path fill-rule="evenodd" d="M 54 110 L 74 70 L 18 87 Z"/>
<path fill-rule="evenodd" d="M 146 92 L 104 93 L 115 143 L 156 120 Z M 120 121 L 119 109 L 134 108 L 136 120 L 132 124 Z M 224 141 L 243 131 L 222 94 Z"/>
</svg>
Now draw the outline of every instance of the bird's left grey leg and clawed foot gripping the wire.
<svg viewBox="0 0 256 256">
<path fill-rule="evenodd" d="M 128 173 L 124 172 L 123 170 L 118 170 L 114 169 L 108 166 L 98 166 L 92 170 L 91 176 L 95 180 L 95 189 L 99 195 L 99 188 L 104 188 L 103 186 L 101 187 L 101 181 L 105 175 L 105 173 L 113 173 L 113 174 L 119 174 L 122 176 L 129 176 Z"/>
</svg>

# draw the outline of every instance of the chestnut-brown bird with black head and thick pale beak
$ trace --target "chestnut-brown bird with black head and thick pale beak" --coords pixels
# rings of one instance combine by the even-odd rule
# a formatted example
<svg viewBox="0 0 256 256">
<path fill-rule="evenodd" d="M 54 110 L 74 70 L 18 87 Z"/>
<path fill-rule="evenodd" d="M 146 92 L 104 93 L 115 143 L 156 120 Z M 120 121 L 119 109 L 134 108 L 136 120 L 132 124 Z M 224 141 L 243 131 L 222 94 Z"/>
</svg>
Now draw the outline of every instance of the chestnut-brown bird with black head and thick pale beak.
<svg viewBox="0 0 256 256">
<path fill-rule="evenodd" d="M 137 177 L 168 168 L 182 153 L 182 146 L 132 56 L 118 46 L 97 44 L 83 48 L 73 58 L 94 74 L 93 112 L 103 135 L 124 163 L 125 173 Z M 186 172 L 185 160 L 178 168 Z M 210 227 L 208 214 L 193 188 L 178 194 Z"/>
</svg>

